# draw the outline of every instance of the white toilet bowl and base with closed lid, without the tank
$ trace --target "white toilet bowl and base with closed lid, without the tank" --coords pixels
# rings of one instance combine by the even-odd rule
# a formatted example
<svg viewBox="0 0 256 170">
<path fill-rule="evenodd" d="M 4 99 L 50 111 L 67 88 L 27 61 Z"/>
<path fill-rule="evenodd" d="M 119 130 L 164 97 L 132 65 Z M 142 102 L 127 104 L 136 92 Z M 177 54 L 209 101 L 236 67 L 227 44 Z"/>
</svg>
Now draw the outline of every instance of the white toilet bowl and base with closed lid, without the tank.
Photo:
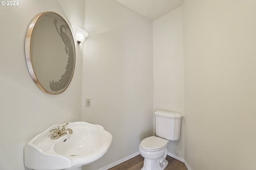
<svg viewBox="0 0 256 170">
<path fill-rule="evenodd" d="M 141 170 L 164 170 L 166 168 L 168 142 L 166 139 L 154 136 L 142 140 L 139 151 L 144 157 L 144 166 Z"/>
</svg>

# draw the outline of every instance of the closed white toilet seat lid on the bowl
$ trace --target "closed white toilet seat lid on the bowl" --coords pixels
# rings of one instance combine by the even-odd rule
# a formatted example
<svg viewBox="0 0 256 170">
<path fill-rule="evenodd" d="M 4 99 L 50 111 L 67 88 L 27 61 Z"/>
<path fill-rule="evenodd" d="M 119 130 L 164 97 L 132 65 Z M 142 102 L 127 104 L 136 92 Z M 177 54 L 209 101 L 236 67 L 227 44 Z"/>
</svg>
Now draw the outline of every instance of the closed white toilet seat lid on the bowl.
<svg viewBox="0 0 256 170">
<path fill-rule="evenodd" d="M 158 150 L 165 149 L 168 145 L 168 140 L 162 139 L 160 137 L 147 137 L 143 139 L 140 143 L 140 148 L 147 152 L 155 152 Z"/>
</svg>

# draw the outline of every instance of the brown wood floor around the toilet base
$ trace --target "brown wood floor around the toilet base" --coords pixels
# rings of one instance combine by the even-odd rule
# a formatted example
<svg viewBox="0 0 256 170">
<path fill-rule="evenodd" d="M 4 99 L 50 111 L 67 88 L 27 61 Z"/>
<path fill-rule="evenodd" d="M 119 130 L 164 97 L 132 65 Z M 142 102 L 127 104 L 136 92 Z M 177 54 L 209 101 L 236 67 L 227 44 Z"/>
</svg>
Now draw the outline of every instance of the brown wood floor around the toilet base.
<svg viewBox="0 0 256 170">
<path fill-rule="evenodd" d="M 164 170 L 188 170 L 184 163 L 170 157 L 166 156 L 168 160 L 168 165 Z M 140 170 L 143 167 L 144 158 L 141 155 L 138 155 L 126 162 L 119 164 L 109 170 Z"/>
</svg>

